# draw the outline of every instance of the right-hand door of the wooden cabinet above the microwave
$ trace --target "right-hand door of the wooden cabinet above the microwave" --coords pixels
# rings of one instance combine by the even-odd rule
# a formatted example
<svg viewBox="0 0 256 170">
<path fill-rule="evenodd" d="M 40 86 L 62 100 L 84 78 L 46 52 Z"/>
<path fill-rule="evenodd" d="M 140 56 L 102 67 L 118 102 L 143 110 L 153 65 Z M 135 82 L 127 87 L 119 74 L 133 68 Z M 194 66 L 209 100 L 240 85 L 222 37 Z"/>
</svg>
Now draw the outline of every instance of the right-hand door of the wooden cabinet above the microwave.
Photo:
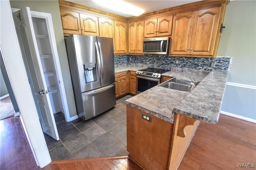
<svg viewBox="0 0 256 170">
<path fill-rule="evenodd" d="M 157 36 L 167 36 L 172 33 L 172 19 L 173 16 L 165 16 L 158 18 L 157 23 Z"/>
</svg>

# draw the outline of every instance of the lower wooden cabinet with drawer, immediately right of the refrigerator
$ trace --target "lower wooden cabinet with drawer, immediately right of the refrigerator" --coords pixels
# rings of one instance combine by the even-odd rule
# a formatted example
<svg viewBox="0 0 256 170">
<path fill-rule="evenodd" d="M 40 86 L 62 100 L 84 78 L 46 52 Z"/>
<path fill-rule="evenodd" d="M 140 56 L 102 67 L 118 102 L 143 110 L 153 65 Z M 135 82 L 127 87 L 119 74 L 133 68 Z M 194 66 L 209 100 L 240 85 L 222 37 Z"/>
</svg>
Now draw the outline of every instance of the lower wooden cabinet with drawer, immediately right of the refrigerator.
<svg viewBox="0 0 256 170">
<path fill-rule="evenodd" d="M 120 72 L 115 74 L 116 98 L 128 93 L 128 78 L 127 72 Z"/>
</svg>

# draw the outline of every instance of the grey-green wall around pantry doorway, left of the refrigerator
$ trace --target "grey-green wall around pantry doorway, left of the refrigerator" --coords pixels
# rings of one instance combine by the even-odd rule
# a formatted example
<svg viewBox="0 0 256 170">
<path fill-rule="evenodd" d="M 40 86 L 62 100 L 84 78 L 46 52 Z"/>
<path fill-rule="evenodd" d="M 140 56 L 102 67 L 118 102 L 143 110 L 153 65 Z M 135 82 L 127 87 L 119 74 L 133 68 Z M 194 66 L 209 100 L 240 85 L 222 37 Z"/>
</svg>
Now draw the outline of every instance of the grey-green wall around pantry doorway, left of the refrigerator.
<svg viewBox="0 0 256 170">
<path fill-rule="evenodd" d="M 60 59 L 60 67 L 64 81 L 64 87 L 67 96 L 68 109 L 70 117 L 77 116 L 76 105 L 74 100 L 73 87 L 70 77 L 70 70 L 68 66 L 68 57 L 66 53 L 66 46 L 64 41 L 64 34 L 62 30 L 62 23 L 60 19 L 60 8 L 58 0 L 10 0 L 12 8 L 30 7 L 32 11 L 46 12 L 52 15 L 52 23 L 54 28 L 54 35 Z"/>
</svg>

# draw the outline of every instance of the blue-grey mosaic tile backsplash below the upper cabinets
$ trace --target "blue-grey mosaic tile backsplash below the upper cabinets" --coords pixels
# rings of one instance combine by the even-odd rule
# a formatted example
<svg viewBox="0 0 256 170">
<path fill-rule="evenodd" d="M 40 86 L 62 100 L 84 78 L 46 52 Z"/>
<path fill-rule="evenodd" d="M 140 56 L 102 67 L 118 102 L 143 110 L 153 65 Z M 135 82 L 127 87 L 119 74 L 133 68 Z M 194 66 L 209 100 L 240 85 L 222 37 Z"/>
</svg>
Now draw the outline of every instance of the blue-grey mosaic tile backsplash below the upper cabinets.
<svg viewBox="0 0 256 170">
<path fill-rule="evenodd" d="M 173 57 L 168 55 L 115 55 L 115 64 L 147 64 L 150 68 L 192 68 L 198 70 L 228 70 L 231 57 Z M 178 61 L 178 64 L 176 64 Z M 215 67 L 211 63 L 215 62 Z"/>
</svg>

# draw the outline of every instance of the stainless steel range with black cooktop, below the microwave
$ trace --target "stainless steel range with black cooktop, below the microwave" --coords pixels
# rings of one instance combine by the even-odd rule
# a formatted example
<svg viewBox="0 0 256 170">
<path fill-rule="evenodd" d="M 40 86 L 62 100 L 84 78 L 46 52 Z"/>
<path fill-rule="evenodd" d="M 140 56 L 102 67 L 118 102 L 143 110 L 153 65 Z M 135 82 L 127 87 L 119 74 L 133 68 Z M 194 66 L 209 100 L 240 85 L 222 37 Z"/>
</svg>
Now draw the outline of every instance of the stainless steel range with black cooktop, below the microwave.
<svg viewBox="0 0 256 170">
<path fill-rule="evenodd" d="M 161 74 L 169 70 L 162 70 L 156 68 L 146 68 L 138 70 L 137 76 L 137 94 L 144 92 L 158 84 L 160 84 Z"/>
</svg>

